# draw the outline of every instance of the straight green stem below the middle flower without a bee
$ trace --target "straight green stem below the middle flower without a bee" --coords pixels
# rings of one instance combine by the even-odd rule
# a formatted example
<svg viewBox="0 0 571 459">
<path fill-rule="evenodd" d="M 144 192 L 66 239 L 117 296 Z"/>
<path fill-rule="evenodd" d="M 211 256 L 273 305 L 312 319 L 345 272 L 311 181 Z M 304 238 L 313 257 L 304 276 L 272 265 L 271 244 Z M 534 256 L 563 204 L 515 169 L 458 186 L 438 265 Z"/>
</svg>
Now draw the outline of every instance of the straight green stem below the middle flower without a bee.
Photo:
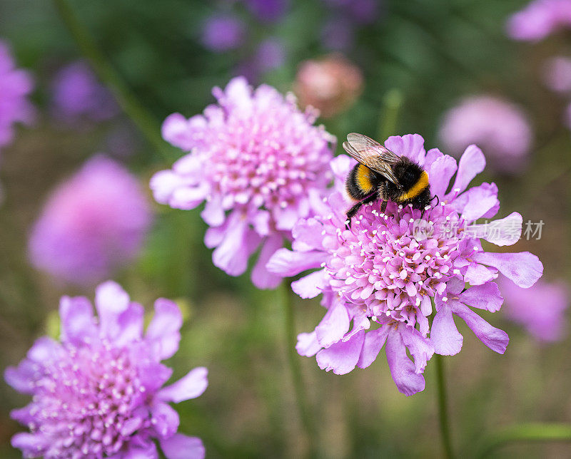
<svg viewBox="0 0 571 459">
<path fill-rule="evenodd" d="M 301 373 L 300 356 L 295 351 L 297 332 L 295 331 L 295 306 L 293 304 L 293 293 L 290 290 L 290 280 L 291 279 L 286 279 L 286 281 L 281 284 L 285 314 L 285 352 L 288 354 L 293 390 L 295 391 L 295 401 L 298 405 L 301 423 L 308 433 L 310 456 L 315 457 L 317 454 L 315 447 L 317 430 L 315 430 L 315 423 L 311 416 L 308 397 L 305 392 L 306 385 L 305 381 L 303 381 L 303 374 Z"/>
</svg>

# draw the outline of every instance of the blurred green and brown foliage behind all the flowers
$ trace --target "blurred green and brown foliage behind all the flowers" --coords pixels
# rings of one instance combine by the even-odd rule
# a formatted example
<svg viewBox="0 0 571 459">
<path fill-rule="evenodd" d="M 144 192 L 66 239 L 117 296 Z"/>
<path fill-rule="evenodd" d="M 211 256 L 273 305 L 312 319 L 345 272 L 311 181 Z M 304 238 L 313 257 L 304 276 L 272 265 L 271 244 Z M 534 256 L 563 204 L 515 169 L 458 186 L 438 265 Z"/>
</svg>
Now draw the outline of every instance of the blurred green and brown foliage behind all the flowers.
<svg viewBox="0 0 571 459">
<path fill-rule="evenodd" d="M 71 4 L 109 61 L 153 114 L 157 129 L 173 112 L 190 116 L 213 102 L 211 88 L 223 86 L 251 55 L 251 46 L 211 53 L 200 43 L 206 17 L 227 5 L 186 0 L 75 0 Z M 363 70 L 365 91 L 350 110 L 327 120 L 342 138 L 350 131 L 375 136 L 395 90 L 402 103 L 394 133 L 420 133 L 437 145 L 442 113 L 459 98 L 492 93 L 525 107 L 535 128 L 530 170 L 521 177 L 492 177 L 500 187 L 500 216 L 514 210 L 524 219 L 545 221 L 541 241 L 518 250 L 540 255 L 548 278 L 570 274 L 570 135 L 561 123 L 565 100 L 538 81 L 547 56 L 569 51 L 568 36 L 529 45 L 506 38 L 507 16 L 522 0 L 386 0 L 375 24 L 358 29 L 348 57 Z M 281 91 L 291 88 L 298 64 L 322 56 L 318 27 L 326 14 L 320 0 L 292 0 L 282 21 L 260 24 L 240 4 L 233 11 L 248 21 L 253 42 L 270 36 L 285 44 L 286 63 L 263 76 Z M 49 119 L 49 84 L 59 66 L 79 58 L 74 41 L 51 2 L 0 0 L 0 38 L 11 43 L 19 66 L 36 78 L 34 102 L 41 116 L 34 128 L 2 153 L 6 200 L 0 208 L 0 368 L 19 361 L 40 334 L 54 330 L 61 294 L 93 289 L 57 284 L 34 272 L 26 259 L 26 234 L 49 190 L 101 148 L 113 123 L 86 132 L 61 131 Z M 567 41 L 565 41 L 567 39 Z M 394 100 L 394 99 L 393 99 Z M 168 164 L 141 138 L 128 158 L 147 182 Z M 489 173 L 489 172 L 487 172 Z M 151 197 L 149 197 L 151 199 Z M 299 457 L 303 435 L 286 368 L 283 309 L 278 292 L 258 292 L 248 274 L 231 278 L 213 267 L 202 239 L 199 211 L 156 205 L 156 224 L 137 264 L 116 279 L 137 301 L 151 306 L 158 296 L 178 299 L 188 309 L 181 350 L 171 359 L 175 377 L 205 365 L 210 386 L 204 396 L 178 406 L 184 433 L 198 435 L 209 457 Z M 533 244 L 533 247 L 530 247 Z M 298 331 L 310 331 L 323 309 L 318 301 L 295 301 Z M 462 354 L 446 359 L 453 441 L 473 451 L 483 432 L 517 421 L 570 421 L 570 341 L 538 346 L 523 331 L 503 323 L 512 342 L 505 356 L 486 349 L 466 329 Z M 427 388 L 411 398 L 396 390 L 383 359 L 365 371 L 335 376 L 315 359 L 300 357 L 318 420 L 323 458 L 440 457 L 434 368 Z M 9 438 L 19 426 L 11 408 L 26 397 L 0 383 L 0 456 L 16 458 Z M 571 446 L 513 445 L 497 457 L 569 457 Z"/>
</svg>

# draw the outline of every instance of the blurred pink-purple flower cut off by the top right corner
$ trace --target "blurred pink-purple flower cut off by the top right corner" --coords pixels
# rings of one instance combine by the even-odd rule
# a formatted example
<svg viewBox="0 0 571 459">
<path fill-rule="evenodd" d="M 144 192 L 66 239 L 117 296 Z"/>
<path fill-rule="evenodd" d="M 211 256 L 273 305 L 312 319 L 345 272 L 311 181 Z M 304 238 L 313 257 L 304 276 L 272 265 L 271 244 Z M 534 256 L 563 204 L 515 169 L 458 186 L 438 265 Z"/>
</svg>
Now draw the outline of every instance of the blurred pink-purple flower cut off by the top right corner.
<svg viewBox="0 0 571 459">
<path fill-rule="evenodd" d="M 515 40 L 540 41 L 571 26 L 570 0 L 533 0 L 507 21 L 507 34 Z"/>
</svg>

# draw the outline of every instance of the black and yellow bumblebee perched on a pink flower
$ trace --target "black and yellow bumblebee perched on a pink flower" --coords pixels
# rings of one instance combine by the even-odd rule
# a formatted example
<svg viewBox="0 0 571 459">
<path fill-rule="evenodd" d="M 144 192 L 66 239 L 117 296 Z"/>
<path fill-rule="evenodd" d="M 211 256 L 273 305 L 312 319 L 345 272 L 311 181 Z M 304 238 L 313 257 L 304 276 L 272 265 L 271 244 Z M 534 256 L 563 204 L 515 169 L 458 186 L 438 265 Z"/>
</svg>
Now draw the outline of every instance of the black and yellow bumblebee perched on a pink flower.
<svg viewBox="0 0 571 459">
<path fill-rule="evenodd" d="M 413 160 L 395 155 L 363 134 L 348 134 L 343 148 L 358 161 L 345 182 L 349 196 L 357 201 L 347 211 L 348 227 L 360 207 L 375 200 L 382 201 L 381 212 L 385 212 L 388 201 L 412 204 L 424 212 L 434 199 L 430 197 L 428 173 Z"/>
</svg>

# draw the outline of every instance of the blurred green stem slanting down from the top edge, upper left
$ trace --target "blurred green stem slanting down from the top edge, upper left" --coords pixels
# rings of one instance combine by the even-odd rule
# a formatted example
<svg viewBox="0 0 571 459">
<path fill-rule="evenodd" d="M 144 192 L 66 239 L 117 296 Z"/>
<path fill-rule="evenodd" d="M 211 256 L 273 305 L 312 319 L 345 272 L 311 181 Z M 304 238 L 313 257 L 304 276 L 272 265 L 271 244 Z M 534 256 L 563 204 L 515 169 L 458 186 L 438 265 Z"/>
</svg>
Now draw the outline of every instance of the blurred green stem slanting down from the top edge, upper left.
<svg viewBox="0 0 571 459">
<path fill-rule="evenodd" d="M 118 104 L 128 117 L 131 118 L 138 130 L 146 137 L 148 143 L 151 143 L 153 148 L 156 148 L 156 150 L 161 153 L 164 160 L 171 163 L 174 157 L 168 145 L 161 138 L 158 121 L 139 102 L 138 98 L 134 96 L 124 83 L 121 76 L 108 62 L 106 56 L 98 48 L 94 38 L 84 24 L 81 24 L 78 16 L 69 5 L 69 1 L 54 0 L 54 5 L 61 20 L 66 25 L 71 36 L 73 36 L 81 53 L 83 53 L 91 63 L 97 76 L 108 86 Z"/>
</svg>

